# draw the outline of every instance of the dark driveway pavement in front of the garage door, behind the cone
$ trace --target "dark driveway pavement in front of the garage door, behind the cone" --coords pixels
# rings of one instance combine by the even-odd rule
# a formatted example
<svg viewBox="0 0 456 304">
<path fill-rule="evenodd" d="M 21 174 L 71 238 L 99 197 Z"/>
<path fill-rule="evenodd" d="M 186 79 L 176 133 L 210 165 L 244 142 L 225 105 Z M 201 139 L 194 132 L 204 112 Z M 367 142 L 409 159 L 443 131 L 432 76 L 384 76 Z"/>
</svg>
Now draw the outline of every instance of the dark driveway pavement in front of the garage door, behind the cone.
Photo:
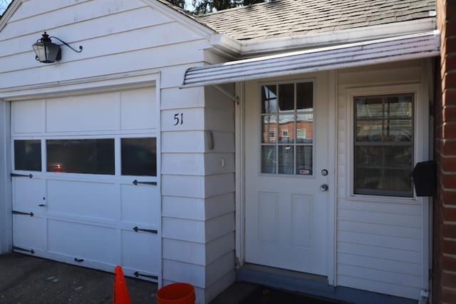
<svg viewBox="0 0 456 304">
<path fill-rule="evenodd" d="M 134 304 L 155 304 L 157 284 L 127 278 Z M 113 303 L 113 273 L 19 253 L 0 255 L 0 304 Z"/>
</svg>

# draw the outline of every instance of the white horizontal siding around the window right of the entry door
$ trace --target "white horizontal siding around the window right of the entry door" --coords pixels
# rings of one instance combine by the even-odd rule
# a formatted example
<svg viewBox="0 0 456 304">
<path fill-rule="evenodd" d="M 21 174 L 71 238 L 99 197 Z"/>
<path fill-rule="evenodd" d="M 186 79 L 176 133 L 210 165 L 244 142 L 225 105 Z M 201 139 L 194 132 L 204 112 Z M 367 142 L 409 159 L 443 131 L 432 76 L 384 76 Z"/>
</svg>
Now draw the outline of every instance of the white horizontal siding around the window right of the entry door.
<svg viewBox="0 0 456 304">
<path fill-rule="evenodd" d="M 420 203 L 350 199 L 347 89 L 420 83 L 421 61 L 338 71 L 337 285 L 418 299 L 423 276 Z M 365 196 L 366 197 L 366 196 Z"/>
</svg>

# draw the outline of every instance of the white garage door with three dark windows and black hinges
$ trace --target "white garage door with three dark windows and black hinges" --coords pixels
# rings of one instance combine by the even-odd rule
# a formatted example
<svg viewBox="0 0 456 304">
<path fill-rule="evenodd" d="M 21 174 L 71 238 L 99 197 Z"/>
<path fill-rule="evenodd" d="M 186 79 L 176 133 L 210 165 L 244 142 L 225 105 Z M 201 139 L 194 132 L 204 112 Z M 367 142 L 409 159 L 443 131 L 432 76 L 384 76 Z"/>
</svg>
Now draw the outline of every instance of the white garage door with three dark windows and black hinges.
<svg viewBox="0 0 456 304">
<path fill-rule="evenodd" d="M 14 250 L 157 280 L 155 89 L 11 103 Z"/>
</svg>

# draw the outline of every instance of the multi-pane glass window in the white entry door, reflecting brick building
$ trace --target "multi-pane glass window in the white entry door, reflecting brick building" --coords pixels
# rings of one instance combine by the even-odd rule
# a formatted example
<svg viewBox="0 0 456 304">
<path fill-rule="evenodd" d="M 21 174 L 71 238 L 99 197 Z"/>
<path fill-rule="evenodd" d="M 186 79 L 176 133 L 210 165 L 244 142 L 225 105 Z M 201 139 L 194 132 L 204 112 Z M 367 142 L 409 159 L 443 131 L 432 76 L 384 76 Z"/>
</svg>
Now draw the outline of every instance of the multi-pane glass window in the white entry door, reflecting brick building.
<svg viewBox="0 0 456 304">
<path fill-rule="evenodd" d="M 312 174 L 314 83 L 261 86 L 261 173 Z"/>
</svg>

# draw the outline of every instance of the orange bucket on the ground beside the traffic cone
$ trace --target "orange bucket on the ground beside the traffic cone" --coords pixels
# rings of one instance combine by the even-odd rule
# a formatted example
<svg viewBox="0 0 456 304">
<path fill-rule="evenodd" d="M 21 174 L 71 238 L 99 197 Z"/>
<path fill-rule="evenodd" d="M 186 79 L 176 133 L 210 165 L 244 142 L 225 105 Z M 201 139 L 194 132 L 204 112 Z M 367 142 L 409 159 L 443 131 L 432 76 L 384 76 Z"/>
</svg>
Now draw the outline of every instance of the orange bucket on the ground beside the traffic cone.
<svg viewBox="0 0 456 304">
<path fill-rule="evenodd" d="M 160 288 L 157 304 L 195 304 L 195 288 L 187 283 L 173 283 Z"/>
</svg>

